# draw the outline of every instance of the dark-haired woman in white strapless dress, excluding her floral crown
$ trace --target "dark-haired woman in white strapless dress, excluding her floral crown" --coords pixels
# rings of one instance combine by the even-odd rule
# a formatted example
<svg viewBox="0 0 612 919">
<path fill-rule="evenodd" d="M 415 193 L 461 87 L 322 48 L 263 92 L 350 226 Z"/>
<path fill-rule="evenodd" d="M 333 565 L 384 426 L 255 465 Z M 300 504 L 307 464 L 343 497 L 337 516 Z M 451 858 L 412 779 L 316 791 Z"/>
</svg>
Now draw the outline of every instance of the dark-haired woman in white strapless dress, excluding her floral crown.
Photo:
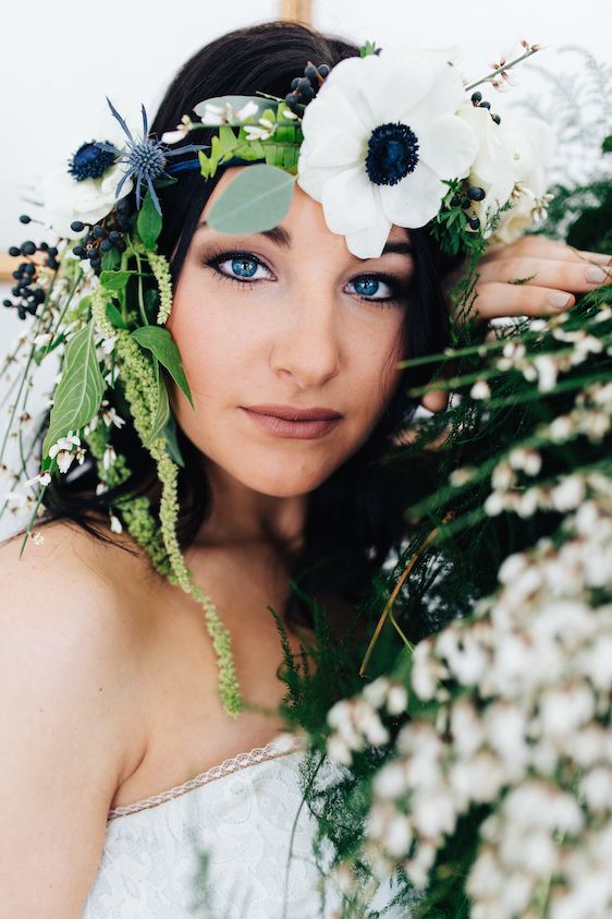
<svg viewBox="0 0 612 919">
<path fill-rule="evenodd" d="M 294 24 L 231 33 L 185 64 L 152 130 L 161 136 L 205 98 L 282 97 L 307 61 L 333 68 L 356 55 Z M 117 494 L 96 494 L 86 465 L 59 483 L 44 543 L 19 566 L 14 541 L 0 551 L 10 585 L 1 917 L 188 916 L 196 843 L 210 857 L 199 894 L 211 911 L 203 915 L 270 919 L 285 902 L 286 916 L 319 915 L 305 823 L 297 868 L 284 872 L 299 793 L 296 752 L 271 743 L 283 727 L 276 709 L 284 686 L 268 607 L 290 624 L 294 651 L 301 636 L 313 639 L 294 578 L 341 636 L 401 536 L 376 460 L 414 408 L 402 394 L 415 377 L 401 376 L 396 360 L 445 341 L 442 285 L 452 266 L 425 231 L 393 226 L 395 251 L 362 267 L 298 186 L 274 232 L 236 240 L 211 229 L 211 206 L 248 168 L 230 166 L 209 182 L 185 172 L 162 189 L 159 247 L 174 287 L 168 328 L 195 404 L 172 386 L 185 458 L 182 547 L 222 612 L 252 704 L 227 717 L 201 606 L 154 571 L 126 532 L 108 532 Z M 509 283 L 517 277 L 531 280 Z M 477 305 L 484 319 L 551 315 L 593 282 L 579 255 L 524 240 L 484 259 Z M 426 404 L 442 408 L 438 397 Z M 319 422 L 266 414 L 283 409 L 315 410 Z M 117 438 L 135 470 L 123 492 L 155 500 L 155 467 L 133 427 Z M 326 559 L 327 568 L 314 564 Z"/>
</svg>

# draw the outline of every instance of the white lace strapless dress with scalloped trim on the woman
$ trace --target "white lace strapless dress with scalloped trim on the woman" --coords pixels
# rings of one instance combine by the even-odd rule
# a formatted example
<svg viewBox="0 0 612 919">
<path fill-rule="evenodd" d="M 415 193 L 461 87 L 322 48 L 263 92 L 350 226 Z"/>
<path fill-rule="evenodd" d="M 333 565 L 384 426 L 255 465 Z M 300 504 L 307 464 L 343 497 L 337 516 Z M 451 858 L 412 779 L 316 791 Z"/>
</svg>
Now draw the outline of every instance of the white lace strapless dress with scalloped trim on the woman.
<svg viewBox="0 0 612 919">
<path fill-rule="evenodd" d="M 82 919 L 332 919 L 340 895 L 329 884 L 325 900 L 319 892 L 315 819 L 301 808 L 303 755 L 279 736 L 111 810 Z M 390 891 L 381 885 L 372 908 Z"/>
</svg>

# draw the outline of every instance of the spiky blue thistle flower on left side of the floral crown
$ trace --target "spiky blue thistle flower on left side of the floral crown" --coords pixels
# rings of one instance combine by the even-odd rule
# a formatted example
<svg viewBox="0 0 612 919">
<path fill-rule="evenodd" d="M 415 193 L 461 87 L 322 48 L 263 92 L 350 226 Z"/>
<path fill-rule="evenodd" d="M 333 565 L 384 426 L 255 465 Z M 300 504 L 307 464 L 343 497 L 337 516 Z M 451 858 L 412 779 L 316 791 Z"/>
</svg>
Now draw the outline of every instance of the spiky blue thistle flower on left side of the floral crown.
<svg viewBox="0 0 612 919">
<path fill-rule="evenodd" d="M 179 156 L 180 154 L 185 153 L 194 153 L 196 150 L 204 149 L 204 147 L 195 144 L 186 144 L 185 146 L 171 150 L 161 141 L 157 141 L 154 136 L 149 136 L 147 112 L 145 111 L 144 106 L 140 107 L 143 113 L 143 136 L 142 138 L 134 140 L 127 124 L 117 111 L 108 96 L 107 102 L 109 104 L 112 114 L 117 118 L 125 133 L 125 136 L 127 137 L 127 149 L 125 150 L 120 150 L 112 144 L 96 144 L 96 146 L 101 150 L 113 154 L 115 157 L 115 164 L 123 162 L 127 167 L 119 185 L 117 186 L 117 198 L 120 197 L 121 189 L 130 178 L 135 181 L 136 184 L 136 207 L 138 209 L 140 208 L 143 202 L 143 185 L 145 184 L 149 191 L 157 213 L 161 215 L 161 206 L 155 190 L 155 182 L 156 180 L 162 178 L 170 178 L 170 173 L 166 171 L 169 157 Z"/>
</svg>

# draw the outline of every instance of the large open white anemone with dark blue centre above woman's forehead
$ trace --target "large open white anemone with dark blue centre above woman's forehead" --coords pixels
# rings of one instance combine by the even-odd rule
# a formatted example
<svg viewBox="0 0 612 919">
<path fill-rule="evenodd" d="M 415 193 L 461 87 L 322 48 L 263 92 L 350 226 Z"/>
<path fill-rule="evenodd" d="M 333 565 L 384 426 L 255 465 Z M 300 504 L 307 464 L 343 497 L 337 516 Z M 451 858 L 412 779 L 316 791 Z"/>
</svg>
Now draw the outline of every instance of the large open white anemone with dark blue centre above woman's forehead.
<svg viewBox="0 0 612 919">
<path fill-rule="evenodd" d="M 401 48 L 340 61 L 308 104 L 297 184 L 359 258 L 381 255 L 393 223 L 424 227 L 478 150 L 443 50 Z"/>
</svg>

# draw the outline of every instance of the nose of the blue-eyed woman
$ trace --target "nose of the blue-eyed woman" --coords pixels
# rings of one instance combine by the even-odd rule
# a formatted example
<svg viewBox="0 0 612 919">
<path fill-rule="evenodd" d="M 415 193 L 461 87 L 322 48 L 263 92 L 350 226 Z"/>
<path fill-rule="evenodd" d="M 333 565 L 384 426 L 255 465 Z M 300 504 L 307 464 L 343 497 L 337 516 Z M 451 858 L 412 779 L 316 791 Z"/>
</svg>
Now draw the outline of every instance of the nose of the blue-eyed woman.
<svg viewBox="0 0 612 919">
<path fill-rule="evenodd" d="M 302 287 L 274 329 L 270 364 L 302 389 L 321 386 L 340 372 L 338 303 L 320 287 Z"/>
</svg>

